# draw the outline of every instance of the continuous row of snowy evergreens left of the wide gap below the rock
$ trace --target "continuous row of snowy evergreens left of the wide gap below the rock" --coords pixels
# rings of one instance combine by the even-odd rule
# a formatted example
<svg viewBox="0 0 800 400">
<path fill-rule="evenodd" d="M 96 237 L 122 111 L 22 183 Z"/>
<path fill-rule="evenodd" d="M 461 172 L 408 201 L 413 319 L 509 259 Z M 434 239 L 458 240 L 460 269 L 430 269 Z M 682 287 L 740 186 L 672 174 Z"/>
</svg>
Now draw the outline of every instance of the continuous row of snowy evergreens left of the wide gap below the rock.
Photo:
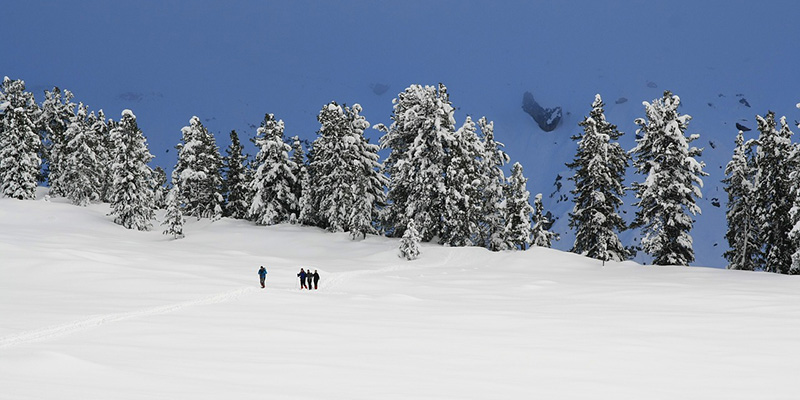
<svg viewBox="0 0 800 400">
<path fill-rule="evenodd" d="M 456 127 L 444 85 L 412 85 L 398 96 L 380 144 L 364 137 L 361 106 L 331 102 L 317 116 L 317 138 L 286 138 L 267 114 L 243 154 L 238 133 L 222 156 L 214 135 L 193 117 L 182 129 L 170 182 L 153 158 L 136 116 L 119 121 L 46 92 L 39 106 L 24 82 L 5 78 L 0 92 L 0 177 L 5 197 L 33 199 L 37 183 L 73 204 L 108 202 L 114 221 L 149 230 L 164 208 L 164 233 L 183 236 L 186 216 L 298 223 L 354 238 L 403 237 L 408 258 L 419 241 L 492 250 L 550 246 L 541 196 L 531 204 L 520 164 L 509 162 L 493 123 L 467 117 Z M 378 151 L 390 150 L 381 163 Z"/>
</svg>

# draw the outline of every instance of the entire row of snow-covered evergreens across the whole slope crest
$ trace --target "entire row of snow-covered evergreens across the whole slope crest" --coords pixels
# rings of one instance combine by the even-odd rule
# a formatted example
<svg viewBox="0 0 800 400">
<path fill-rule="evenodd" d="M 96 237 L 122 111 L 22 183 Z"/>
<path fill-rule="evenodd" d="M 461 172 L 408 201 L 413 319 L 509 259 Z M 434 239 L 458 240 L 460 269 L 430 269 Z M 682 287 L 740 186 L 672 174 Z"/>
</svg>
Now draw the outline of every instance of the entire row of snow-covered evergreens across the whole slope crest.
<svg viewBox="0 0 800 400">
<path fill-rule="evenodd" d="M 481 246 L 493 251 L 550 247 L 558 236 L 541 195 L 530 198 L 519 163 L 495 140 L 494 125 L 471 117 L 457 127 L 447 88 L 411 85 L 393 101 L 390 126 L 375 125 L 383 136 L 370 143 L 370 123 L 359 104 L 331 102 L 317 120 L 316 139 L 286 137 L 284 123 L 266 114 L 257 129 L 258 153 L 243 153 L 236 131 L 223 156 L 214 135 L 199 118 L 181 130 L 178 161 L 171 179 L 148 167 L 152 155 L 125 110 L 115 122 L 102 111 L 72 103 L 58 88 L 39 106 L 22 81 L 5 78 L 0 91 L 0 177 L 6 197 L 32 199 L 37 182 L 50 196 L 76 205 L 108 202 L 114 221 L 147 230 L 154 210 L 166 209 L 164 233 L 183 236 L 186 216 L 247 219 L 260 225 L 294 223 L 353 239 L 385 234 L 402 238 L 401 254 L 412 259 L 421 241 L 449 246 Z M 690 235 L 700 213 L 702 149 L 691 145 L 691 116 L 678 111 L 680 98 L 669 91 L 645 102 L 635 121 L 636 147 L 625 151 L 623 135 L 606 120 L 595 97 L 589 116 L 573 136 L 569 226 L 572 251 L 599 260 L 630 259 L 638 250 L 659 265 L 694 261 Z M 726 169 L 731 269 L 800 272 L 800 145 L 791 143 L 785 118 L 758 117 L 760 136 L 742 134 Z M 387 149 L 380 161 L 378 151 Z M 633 166 L 641 180 L 626 186 Z M 627 191 L 637 211 L 627 223 L 620 215 Z M 638 229 L 640 248 L 626 247 L 619 234 Z"/>
</svg>

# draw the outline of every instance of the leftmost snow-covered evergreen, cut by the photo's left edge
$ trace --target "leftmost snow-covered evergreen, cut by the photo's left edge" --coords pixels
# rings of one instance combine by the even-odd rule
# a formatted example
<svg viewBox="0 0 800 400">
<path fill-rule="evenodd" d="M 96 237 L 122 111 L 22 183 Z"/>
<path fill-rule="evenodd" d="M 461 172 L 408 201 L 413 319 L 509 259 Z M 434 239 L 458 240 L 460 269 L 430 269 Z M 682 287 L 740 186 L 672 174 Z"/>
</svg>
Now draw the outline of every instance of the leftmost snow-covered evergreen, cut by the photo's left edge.
<svg viewBox="0 0 800 400">
<path fill-rule="evenodd" d="M 36 132 L 36 103 L 25 82 L 3 79 L 5 112 L 0 121 L 0 187 L 2 195 L 34 199 L 42 142 Z"/>
</svg>

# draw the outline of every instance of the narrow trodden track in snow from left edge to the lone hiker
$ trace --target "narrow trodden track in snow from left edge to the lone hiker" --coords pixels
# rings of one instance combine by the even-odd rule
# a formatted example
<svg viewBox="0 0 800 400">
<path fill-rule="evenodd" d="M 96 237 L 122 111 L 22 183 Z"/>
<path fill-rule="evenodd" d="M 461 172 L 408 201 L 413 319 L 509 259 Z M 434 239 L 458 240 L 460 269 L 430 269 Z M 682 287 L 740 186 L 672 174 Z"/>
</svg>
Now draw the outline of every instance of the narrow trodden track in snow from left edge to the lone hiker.
<svg viewBox="0 0 800 400">
<path fill-rule="evenodd" d="M 202 306 L 208 304 L 223 303 L 226 301 L 235 300 L 244 296 L 247 293 L 254 292 L 256 288 L 247 287 L 237 289 L 230 292 L 220 293 L 209 297 L 204 297 L 197 300 L 190 300 L 181 303 L 158 306 L 147 308 L 139 311 L 130 311 L 116 314 L 94 315 L 84 319 L 68 322 L 66 324 L 51 326 L 48 328 L 37 329 L 27 332 L 18 333 L 15 335 L 0 338 L 0 349 L 16 347 L 24 344 L 41 342 L 58 338 L 61 336 L 70 335 L 76 332 L 97 328 L 99 326 L 119 322 L 127 319 L 149 317 L 153 315 L 168 314 L 171 312 L 179 311 L 186 307 Z"/>
</svg>

